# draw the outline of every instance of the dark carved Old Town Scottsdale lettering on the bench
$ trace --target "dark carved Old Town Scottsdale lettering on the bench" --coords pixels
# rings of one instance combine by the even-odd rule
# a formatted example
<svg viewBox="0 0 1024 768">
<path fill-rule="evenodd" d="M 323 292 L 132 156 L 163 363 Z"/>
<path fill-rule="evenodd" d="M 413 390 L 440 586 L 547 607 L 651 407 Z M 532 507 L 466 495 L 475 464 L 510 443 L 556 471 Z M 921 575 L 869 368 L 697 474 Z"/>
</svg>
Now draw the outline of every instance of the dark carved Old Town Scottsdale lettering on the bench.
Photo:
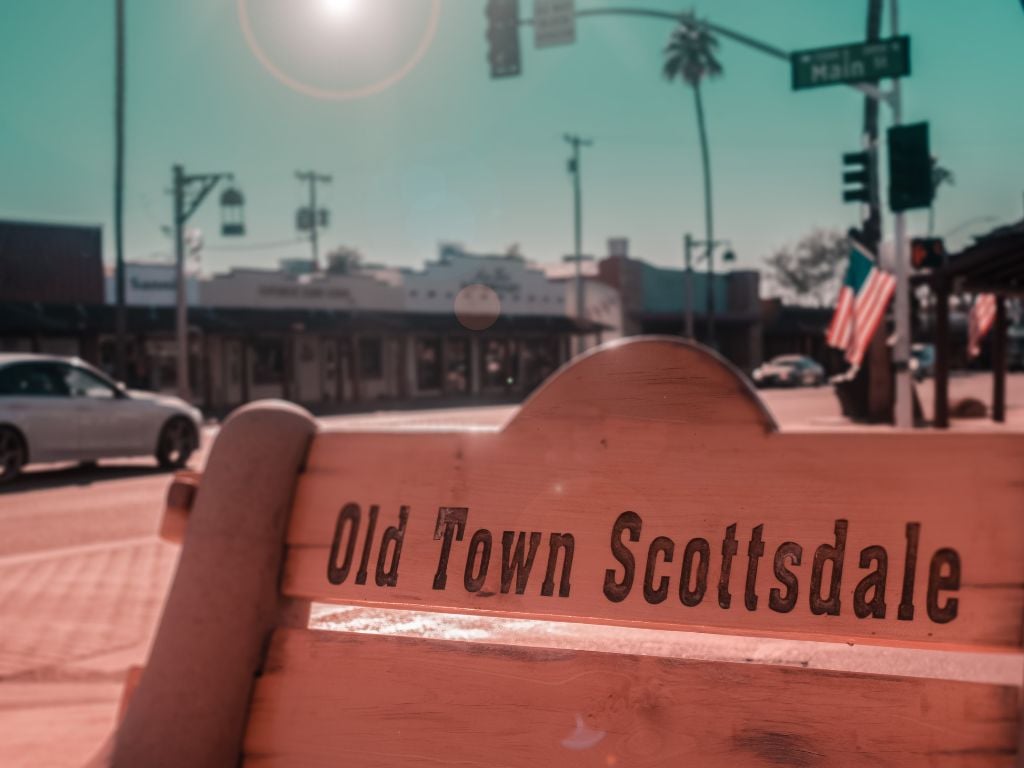
<svg viewBox="0 0 1024 768">
<path fill-rule="evenodd" d="M 372 589 L 373 586 L 391 588 L 398 584 L 399 563 L 406 546 L 406 532 L 412 513 L 408 505 L 398 510 L 397 524 L 388 525 L 376 540 L 380 509 L 369 507 L 364 532 L 362 507 L 355 502 L 345 504 L 338 513 L 331 541 L 327 564 L 328 581 L 333 585 L 344 584 L 355 559 L 356 547 L 361 545 L 358 570 L 354 585 Z M 573 562 L 578 537 L 570 531 L 542 530 L 492 530 L 479 527 L 468 537 L 470 509 L 446 507 L 437 509 L 432 541 L 435 543 L 432 589 L 443 592 L 458 589 L 449 581 L 452 567 L 462 571 L 462 589 L 468 594 L 490 597 L 495 594 L 518 596 L 569 598 L 572 596 Z M 382 523 L 383 524 L 383 523 Z M 804 605 L 804 610 L 815 616 L 839 616 L 853 613 L 857 618 L 886 618 L 886 589 L 889 580 L 890 555 L 885 547 L 872 544 L 859 552 L 847 552 L 850 531 L 854 526 L 849 520 L 833 523 L 830 540 L 817 544 L 771 541 L 771 529 L 763 522 L 749 528 L 742 541 L 740 523 L 725 525 L 721 547 L 709 539 L 694 537 L 685 547 L 667 534 L 672 531 L 645 531 L 644 520 L 632 510 L 620 513 L 612 521 L 610 536 L 605 540 L 609 556 L 603 579 L 598 579 L 603 597 L 611 604 L 622 603 L 633 595 L 638 581 L 637 596 L 650 605 L 665 605 L 664 610 L 685 612 L 686 608 L 700 605 L 708 592 L 712 570 L 713 549 L 721 552 L 718 566 L 717 602 L 722 610 L 744 610 L 752 613 L 767 610 L 790 613 Z M 908 522 L 904 526 L 904 552 L 902 559 L 901 599 L 896 618 L 909 622 L 915 616 L 914 585 L 921 547 L 921 523 Z M 657 536 L 651 536 L 656 532 Z M 647 540 L 650 536 L 649 541 Z M 678 540 L 681 542 L 682 540 Z M 712 542 L 714 539 L 712 539 Z M 546 544 L 546 546 L 545 546 Z M 745 545 L 745 568 L 737 564 L 735 588 L 742 587 L 742 606 L 733 605 L 733 564 Z M 409 546 L 425 547 L 426 542 Z M 592 545 L 593 546 L 593 545 Z M 772 552 L 772 548 L 774 551 Z M 814 555 L 805 563 L 804 551 L 813 548 Z M 375 579 L 368 585 L 370 564 L 376 553 Z M 770 558 L 771 573 L 775 584 L 765 586 L 759 582 L 761 560 Z M 428 553 L 421 553 L 420 560 Z M 849 555 L 850 562 L 847 562 Z M 591 556 L 590 562 L 593 562 Z M 499 560 L 492 562 L 492 560 Z M 452 561 L 456 564 L 453 566 Z M 642 560 L 642 562 L 640 562 Z M 897 560 L 897 563 L 899 561 Z M 740 560 L 739 563 L 742 563 Z M 767 568 L 766 560 L 765 567 Z M 809 566 L 809 567 L 808 567 Z M 806 570 L 805 570 L 806 568 Z M 856 570 L 859 568 L 859 571 Z M 414 574 L 415 575 L 415 574 Z M 423 574 L 426 575 L 426 574 Z M 961 589 L 962 564 L 959 554 L 948 547 L 935 551 L 928 563 L 927 615 L 934 624 L 948 624 L 956 618 Z M 429 579 L 429 577 L 426 577 Z M 458 575 L 455 577 L 458 580 Z M 806 591 L 801 581 L 806 579 Z M 741 582 L 741 585 L 739 584 Z M 846 587 L 844 588 L 844 582 Z M 592 582 L 587 581 L 588 585 Z M 766 593 L 758 594 L 758 585 Z M 459 584 L 458 581 L 455 582 Z M 489 590 L 487 585 L 490 585 Z M 593 587 L 589 587 L 593 589 Z M 847 601 L 847 596 L 852 599 Z M 672 597 L 672 599 L 670 599 Z M 675 607 L 673 607 L 675 606 Z M 678 620 L 678 614 L 673 616 Z"/>
</svg>

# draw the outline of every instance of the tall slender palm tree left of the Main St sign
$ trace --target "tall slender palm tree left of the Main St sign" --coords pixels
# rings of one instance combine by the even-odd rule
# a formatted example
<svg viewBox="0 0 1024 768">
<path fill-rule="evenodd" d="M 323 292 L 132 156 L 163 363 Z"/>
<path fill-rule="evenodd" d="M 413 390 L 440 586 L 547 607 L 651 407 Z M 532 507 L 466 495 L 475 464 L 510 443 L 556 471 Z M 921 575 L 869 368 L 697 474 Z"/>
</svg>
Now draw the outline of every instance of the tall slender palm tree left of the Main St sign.
<svg viewBox="0 0 1024 768">
<path fill-rule="evenodd" d="M 713 274 L 714 216 L 711 202 L 711 157 L 708 152 L 708 127 L 705 124 L 703 99 L 700 83 L 705 78 L 722 74 L 722 65 L 715 55 L 718 39 L 708 26 L 697 20 L 692 11 L 684 15 L 665 46 L 665 66 L 662 72 L 672 81 L 679 78 L 693 90 L 693 103 L 697 113 L 697 132 L 700 136 L 700 158 L 703 162 L 705 180 L 705 242 L 708 248 L 708 343 L 715 346 L 715 294 Z"/>
</svg>

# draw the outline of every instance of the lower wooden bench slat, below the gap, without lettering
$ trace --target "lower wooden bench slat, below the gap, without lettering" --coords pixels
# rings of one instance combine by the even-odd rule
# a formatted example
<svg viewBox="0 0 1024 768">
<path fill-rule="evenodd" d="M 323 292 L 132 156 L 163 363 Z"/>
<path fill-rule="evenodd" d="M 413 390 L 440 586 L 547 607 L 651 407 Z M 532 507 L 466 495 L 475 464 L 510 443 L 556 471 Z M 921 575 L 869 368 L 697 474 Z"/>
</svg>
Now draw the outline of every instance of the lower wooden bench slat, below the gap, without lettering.
<svg viewBox="0 0 1024 768">
<path fill-rule="evenodd" d="M 1016 688 L 281 630 L 250 768 L 1011 766 Z"/>
</svg>

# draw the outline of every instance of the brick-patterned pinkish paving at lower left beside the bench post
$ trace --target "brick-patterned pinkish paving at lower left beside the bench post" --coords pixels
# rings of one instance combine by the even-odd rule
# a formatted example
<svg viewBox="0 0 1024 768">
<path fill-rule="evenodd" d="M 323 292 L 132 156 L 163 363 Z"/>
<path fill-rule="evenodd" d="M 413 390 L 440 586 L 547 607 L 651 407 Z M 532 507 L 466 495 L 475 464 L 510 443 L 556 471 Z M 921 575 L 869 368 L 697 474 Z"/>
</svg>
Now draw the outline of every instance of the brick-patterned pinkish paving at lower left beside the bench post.
<svg viewBox="0 0 1024 768">
<path fill-rule="evenodd" d="M 98 750 L 177 552 L 153 538 L 0 558 L 0 765 L 81 768 Z"/>
</svg>

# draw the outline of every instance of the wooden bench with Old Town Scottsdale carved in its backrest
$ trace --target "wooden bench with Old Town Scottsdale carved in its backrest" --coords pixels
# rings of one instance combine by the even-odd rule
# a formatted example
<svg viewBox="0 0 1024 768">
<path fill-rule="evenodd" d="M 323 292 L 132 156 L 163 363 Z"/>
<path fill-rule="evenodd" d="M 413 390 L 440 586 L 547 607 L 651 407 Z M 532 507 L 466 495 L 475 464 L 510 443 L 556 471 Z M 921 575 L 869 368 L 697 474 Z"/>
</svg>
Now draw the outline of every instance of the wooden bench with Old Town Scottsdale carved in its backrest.
<svg viewBox="0 0 1024 768">
<path fill-rule="evenodd" d="M 314 630 L 313 601 L 509 624 Z M 779 433 L 726 362 L 639 339 L 500 430 L 228 419 L 111 764 L 1021 765 L 1022 620 L 1024 435 Z M 868 671 L 636 640 L 693 631 Z"/>
</svg>

